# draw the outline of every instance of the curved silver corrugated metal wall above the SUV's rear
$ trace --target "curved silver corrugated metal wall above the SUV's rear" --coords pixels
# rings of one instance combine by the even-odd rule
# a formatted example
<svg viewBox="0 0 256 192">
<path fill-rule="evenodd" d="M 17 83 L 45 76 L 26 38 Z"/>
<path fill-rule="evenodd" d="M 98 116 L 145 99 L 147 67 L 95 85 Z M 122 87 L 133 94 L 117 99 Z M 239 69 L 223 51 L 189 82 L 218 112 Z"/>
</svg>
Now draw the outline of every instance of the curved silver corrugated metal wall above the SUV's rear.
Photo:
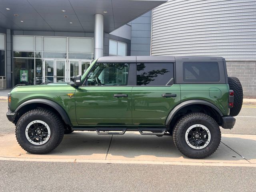
<svg viewBox="0 0 256 192">
<path fill-rule="evenodd" d="M 152 55 L 256 60 L 256 0 L 170 0 L 152 15 Z"/>
</svg>

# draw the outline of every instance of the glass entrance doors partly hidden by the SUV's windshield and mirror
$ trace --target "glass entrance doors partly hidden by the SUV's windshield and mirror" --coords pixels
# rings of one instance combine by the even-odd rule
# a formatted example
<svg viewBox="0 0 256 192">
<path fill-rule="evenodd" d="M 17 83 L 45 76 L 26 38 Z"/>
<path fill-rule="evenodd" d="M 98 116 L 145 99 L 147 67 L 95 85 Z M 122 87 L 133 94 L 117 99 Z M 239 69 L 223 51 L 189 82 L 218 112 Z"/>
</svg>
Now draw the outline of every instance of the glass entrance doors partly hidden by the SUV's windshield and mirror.
<svg viewBox="0 0 256 192">
<path fill-rule="evenodd" d="M 90 60 L 69 60 L 70 73 L 69 78 L 72 80 L 73 76 L 83 75 L 90 66 Z M 70 80 L 69 79 L 69 80 Z"/>
</svg>

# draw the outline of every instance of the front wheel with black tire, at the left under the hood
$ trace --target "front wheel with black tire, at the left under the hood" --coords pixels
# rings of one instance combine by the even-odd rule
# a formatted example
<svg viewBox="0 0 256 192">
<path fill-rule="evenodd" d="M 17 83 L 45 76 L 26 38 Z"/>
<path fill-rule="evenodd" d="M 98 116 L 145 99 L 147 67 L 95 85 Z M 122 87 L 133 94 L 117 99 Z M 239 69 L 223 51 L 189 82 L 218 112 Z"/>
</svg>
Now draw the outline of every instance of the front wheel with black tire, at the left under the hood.
<svg viewBox="0 0 256 192">
<path fill-rule="evenodd" d="M 23 114 L 16 125 L 16 139 L 32 154 L 46 154 L 62 141 L 64 125 L 53 112 L 33 109 Z"/>
</svg>

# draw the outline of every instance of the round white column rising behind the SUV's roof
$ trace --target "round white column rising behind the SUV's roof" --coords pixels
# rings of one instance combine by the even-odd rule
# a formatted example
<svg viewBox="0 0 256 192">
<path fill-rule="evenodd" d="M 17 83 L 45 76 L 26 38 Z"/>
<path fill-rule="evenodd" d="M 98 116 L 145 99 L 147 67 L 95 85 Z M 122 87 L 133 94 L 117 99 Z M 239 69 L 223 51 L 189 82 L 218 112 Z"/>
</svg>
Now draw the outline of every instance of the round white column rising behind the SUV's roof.
<svg viewBox="0 0 256 192">
<path fill-rule="evenodd" d="M 103 56 L 103 15 L 94 15 L 94 59 Z"/>
</svg>

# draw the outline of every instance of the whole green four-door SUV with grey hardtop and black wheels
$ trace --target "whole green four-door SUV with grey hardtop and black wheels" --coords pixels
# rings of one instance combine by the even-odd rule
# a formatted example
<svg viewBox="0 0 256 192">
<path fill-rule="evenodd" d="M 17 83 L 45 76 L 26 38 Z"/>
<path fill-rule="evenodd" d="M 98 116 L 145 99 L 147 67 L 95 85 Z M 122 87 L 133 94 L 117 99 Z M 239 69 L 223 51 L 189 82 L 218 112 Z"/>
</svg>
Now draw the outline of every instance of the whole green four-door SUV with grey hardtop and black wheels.
<svg viewBox="0 0 256 192">
<path fill-rule="evenodd" d="M 102 57 L 74 82 L 15 86 L 6 116 L 33 154 L 54 150 L 74 130 L 139 131 L 173 136 L 182 154 L 205 158 L 220 144 L 220 126 L 233 128 L 242 98 L 222 57 Z"/>
</svg>

